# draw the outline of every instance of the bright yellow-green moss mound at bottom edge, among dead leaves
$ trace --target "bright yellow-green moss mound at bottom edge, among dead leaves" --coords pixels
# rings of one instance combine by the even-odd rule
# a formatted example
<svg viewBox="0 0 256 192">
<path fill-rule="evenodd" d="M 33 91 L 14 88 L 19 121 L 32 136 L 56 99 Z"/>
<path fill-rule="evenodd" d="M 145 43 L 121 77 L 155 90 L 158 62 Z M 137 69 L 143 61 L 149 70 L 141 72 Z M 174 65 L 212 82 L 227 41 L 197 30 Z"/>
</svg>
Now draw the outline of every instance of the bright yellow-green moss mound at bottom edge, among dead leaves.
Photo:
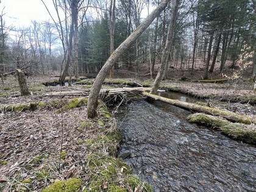
<svg viewBox="0 0 256 192">
<path fill-rule="evenodd" d="M 65 181 L 57 181 L 45 188 L 42 192 L 78 192 L 82 190 L 83 182 L 80 179 L 72 178 Z"/>
</svg>

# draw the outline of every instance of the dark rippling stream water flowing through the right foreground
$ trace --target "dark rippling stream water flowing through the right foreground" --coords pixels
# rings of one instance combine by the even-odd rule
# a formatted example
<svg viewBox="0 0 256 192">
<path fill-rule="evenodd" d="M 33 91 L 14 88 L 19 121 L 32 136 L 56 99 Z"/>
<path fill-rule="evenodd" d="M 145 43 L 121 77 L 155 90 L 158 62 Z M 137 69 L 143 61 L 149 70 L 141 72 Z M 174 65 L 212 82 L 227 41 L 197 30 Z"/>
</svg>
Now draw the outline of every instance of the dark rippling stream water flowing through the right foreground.
<svg viewBox="0 0 256 192">
<path fill-rule="evenodd" d="M 255 146 L 187 123 L 189 113 L 156 101 L 119 108 L 119 155 L 154 191 L 256 191 Z"/>
</svg>

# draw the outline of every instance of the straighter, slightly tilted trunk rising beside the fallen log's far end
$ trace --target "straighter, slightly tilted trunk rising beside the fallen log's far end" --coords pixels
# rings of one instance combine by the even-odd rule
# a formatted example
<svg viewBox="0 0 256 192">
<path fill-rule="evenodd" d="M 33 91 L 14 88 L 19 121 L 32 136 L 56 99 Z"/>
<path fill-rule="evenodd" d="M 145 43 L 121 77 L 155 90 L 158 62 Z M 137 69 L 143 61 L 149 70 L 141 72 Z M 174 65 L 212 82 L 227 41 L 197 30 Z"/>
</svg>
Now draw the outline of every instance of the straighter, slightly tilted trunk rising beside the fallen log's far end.
<svg viewBox="0 0 256 192">
<path fill-rule="evenodd" d="M 152 90 L 151 90 L 152 94 L 157 93 L 157 90 L 160 86 L 160 82 L 161 82 L 161 80 L 163 78 L 163 75 L 165 73 L 169 53 L 171 51 L 172 44 L 173 44 L 174 29 L 175 29 L 176 22 L 177 22 L 178 11 L 179 11 L 179 0 L 174 0 L 172 2 L 171 20 L 169 21 L 168 34 L 167 34 L 167 37 L 166 37 L 165 48 L 163 49 L 161 65 L 160 65 L 159 71 L 157 73 L 157 77 L 155 77 L 155 82 L 154 82 L 154 85 L 153 85 Z"/>
</svg>

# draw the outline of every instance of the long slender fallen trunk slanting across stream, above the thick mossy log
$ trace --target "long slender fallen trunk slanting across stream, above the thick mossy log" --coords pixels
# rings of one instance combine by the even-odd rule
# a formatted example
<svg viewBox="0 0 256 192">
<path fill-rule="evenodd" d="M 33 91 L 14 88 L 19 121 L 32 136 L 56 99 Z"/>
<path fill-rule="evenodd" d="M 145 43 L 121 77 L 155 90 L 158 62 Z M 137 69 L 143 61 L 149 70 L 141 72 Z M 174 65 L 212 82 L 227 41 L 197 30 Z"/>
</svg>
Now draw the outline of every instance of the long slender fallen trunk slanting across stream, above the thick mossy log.
<svg viewBox="0 0 256 192">
<path fill-rule="evenodd" d="M 168 99 L 168 98 L 163 98 L 160 96 L 157 96 L 155 94 L 150 94 L 143 92 L 144 96 L 147 96 L 149 98 L 166 102 L 171 105 L 175 105 L 177 107 L 185 108 L 187 110 L 190 110 L 192 112 L 199 112 L 199 113 L 206 113 L 208 115 L 215 115 L 215 116 L 222 116 L 223 118 L 235 122 L 235 123 L 244 123 L 244 124 L 251 124 L 255 122 L 255 119 L 249 118 L 247 116 L 239 115 L 237 113 L 229 112 L 229 111 L 224 111 L 220 110 L 218 108 L 211 108 L 207 106 L 202 106 L 202 105 L 197 105 L 197 104 L 191 104 L 188 102 L 182 102 L 176 99 Z"/>
</svg>

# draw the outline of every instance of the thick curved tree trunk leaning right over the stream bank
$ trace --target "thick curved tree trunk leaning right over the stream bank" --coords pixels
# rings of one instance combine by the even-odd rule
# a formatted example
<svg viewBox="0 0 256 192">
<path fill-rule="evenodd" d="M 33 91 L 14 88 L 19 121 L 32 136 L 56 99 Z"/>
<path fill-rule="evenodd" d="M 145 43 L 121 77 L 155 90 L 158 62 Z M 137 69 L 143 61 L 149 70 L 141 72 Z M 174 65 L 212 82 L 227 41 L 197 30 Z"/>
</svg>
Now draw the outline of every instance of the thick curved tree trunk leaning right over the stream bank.
<svg viewBox="0 0 256 192">
<path fill-rule="evenodd" d="M 154 21 L 154 19 L 165 9 L 166 5 L 168 4 L 169 0 L 163 0 L 161 4 L 157 6 L 157 8 L 140 24 L 140 26 L 135 29 L 130 36 L 123 41 L 119 45 L 118 48 L 110 55 L 107 62 L 105 62 L 104 66 L 102 66 L 101 71 L 99 71 L 96 79 L 94 80 L 93 87 L 91 87 L 89 98 L 88 98 L 88 105 L 87 105 L 87 115 L 88 118 L 96 117 L 96 109 L 98 107 L 98 96 L 99 91 L 101 90 L 102 84 L 107 77 L 110 69 L 118 60 L 118 58 L 130 47 L 134 41 L 137 40 L 138 37 L 148 28 L 148 26 Z"/>
</svg>

